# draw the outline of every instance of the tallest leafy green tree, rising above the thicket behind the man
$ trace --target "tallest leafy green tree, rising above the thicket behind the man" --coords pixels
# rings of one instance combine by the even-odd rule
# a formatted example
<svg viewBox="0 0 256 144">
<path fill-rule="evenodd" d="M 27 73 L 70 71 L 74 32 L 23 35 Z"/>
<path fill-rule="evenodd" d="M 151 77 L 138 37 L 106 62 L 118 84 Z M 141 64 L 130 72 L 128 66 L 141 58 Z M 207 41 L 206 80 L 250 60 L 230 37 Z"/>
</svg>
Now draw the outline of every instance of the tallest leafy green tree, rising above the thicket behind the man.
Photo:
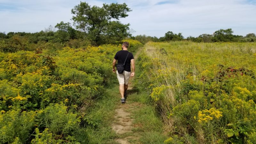
<svg viewBox="0 0 256 144">
<path fill-rule="evenodd" d="M 111 41 L 120 41 L 129 36 L 130 24 L 122 24 L 120 18 L 128 16 L 132 10 L 124 4 L 103 4 L 103 7 L 90 6 L 86 2 L 80 2 L 71 13 L 75 16 L 71 20 L 77 29 L 84 32 L 84 36 L 102 44 Z"/>
</svg>

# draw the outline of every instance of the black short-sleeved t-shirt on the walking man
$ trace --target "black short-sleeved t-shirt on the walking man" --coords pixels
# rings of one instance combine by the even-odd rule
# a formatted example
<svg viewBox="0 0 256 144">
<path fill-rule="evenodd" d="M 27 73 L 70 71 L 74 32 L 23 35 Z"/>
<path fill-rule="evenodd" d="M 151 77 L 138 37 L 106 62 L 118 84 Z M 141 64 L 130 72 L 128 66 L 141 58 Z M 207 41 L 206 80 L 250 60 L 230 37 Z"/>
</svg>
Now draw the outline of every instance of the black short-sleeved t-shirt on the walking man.
<svg viewBox="0 0 256 144">
<path fill-rule="evenodd" d="M 129 53 L 127 60 L 124 65 L 124 70 L 130 72 L 131 71 L 131 60 L 134 59 L 131 52 L 128 52 L 126 50 L 121 50 L 116 52 L 115 59 L 117 60 L 117 64 L 124 64 L 124 60 Z"/>
</svg>

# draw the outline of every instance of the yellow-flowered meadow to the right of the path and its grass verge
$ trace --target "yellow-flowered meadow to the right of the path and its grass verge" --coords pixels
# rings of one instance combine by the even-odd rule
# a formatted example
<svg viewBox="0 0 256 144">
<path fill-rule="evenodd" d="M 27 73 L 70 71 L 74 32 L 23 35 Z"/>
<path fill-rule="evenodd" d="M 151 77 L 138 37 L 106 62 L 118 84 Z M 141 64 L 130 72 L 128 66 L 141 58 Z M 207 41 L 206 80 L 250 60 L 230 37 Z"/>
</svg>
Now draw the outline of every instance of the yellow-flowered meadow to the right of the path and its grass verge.
<svg viewBox="0 0 256 144">
<path fill-rule="evenodd" d="M 256 143 L 256 43 L 148 42 L 138 60 L 164 143 Z"/>
</svg>

